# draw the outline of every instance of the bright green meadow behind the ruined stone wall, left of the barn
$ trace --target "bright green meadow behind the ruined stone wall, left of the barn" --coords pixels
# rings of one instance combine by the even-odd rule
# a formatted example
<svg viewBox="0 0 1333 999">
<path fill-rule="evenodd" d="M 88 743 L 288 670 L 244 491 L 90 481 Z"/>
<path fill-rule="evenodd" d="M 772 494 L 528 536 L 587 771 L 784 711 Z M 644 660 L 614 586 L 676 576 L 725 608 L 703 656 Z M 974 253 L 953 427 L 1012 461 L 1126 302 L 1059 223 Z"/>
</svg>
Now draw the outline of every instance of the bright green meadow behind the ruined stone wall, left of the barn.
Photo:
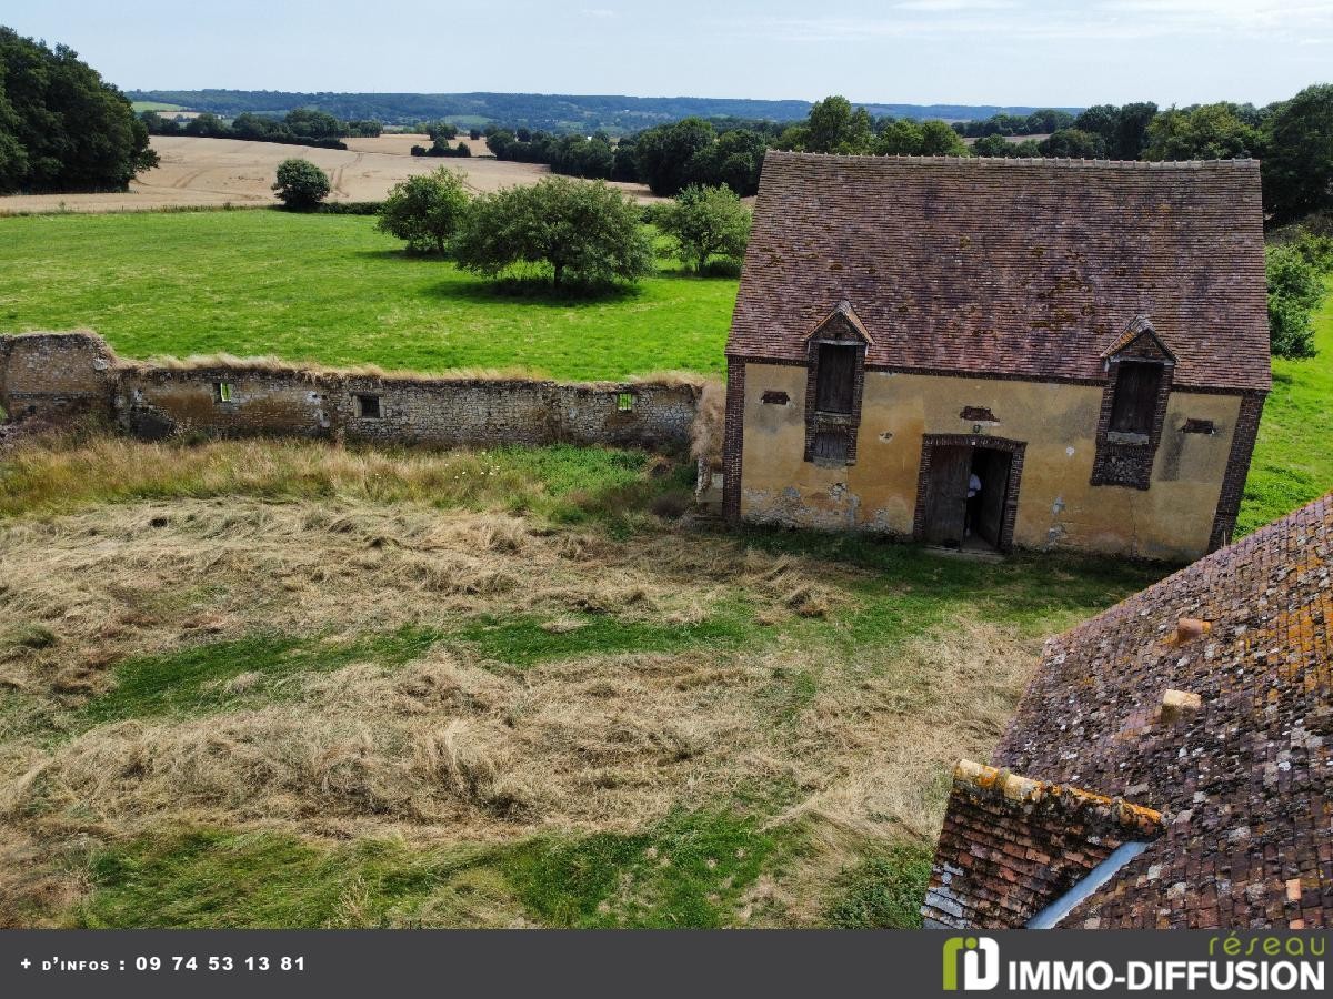
<svg viewBox="0 0 1333 999">
<path fill-rule="evenodd" d="M 88 328 L 125 357 L 277 354 L 555 378 L 721 372 L 733 278 L 657 277 L 599 301 L 516 297 L 413 258 L 357 216 L 0 218 L 0 332 Z"/>
</svg>

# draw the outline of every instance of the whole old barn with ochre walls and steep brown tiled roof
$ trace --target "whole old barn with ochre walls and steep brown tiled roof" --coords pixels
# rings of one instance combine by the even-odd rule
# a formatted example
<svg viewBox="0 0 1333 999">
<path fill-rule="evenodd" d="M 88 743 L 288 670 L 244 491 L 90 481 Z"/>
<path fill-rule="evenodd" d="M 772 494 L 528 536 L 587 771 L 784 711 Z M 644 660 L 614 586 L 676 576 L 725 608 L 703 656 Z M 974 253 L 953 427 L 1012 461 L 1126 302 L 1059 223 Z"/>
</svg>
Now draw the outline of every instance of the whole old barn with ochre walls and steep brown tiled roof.
<svg viewBox="0 0 1333 999">
<path fill-rule="evenodd" d="M 1270 386 L 1258 164 L 770 152 L 730 521 L 1192 559 Z"/>
</svg>

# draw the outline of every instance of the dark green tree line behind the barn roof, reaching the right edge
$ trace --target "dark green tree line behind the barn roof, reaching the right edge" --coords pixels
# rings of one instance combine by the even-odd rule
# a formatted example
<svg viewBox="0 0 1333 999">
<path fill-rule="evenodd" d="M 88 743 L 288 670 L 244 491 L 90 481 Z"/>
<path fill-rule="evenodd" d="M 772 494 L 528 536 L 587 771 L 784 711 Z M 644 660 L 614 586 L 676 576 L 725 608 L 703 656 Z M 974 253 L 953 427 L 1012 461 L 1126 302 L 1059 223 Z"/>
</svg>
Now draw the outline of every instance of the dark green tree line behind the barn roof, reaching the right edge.
<svg viewBox="0 0 1333 999">
<path fill-rule="evenodd" d="M 1021 129 L 1045 139 L 1010 141 Z M 964 137 L 981 133 L 969 147 Z M 487 145 L 501 160 L 548 164 L 555 173 L 640 181 L 659 196 L 689 185 L 725 184 L 753 194 L 769 148 L 858 156 L 992 156 L 1110 160 L 1262 161 L 1264 202 L 1284 222 L 1333 206 L 1333 85 L 1308 87 L 1265 108 L 1204 104 L 1160 109 L 1150 101 L 1100 104 L 1078 115 L 1045 109 L 982 123 L 874 117 L 838 95 L 816 101 L 790 125 L 732 121 L 718 128 L 689 117 L 619 141 L 592 136 L 491 129 Z"/>
</svg>

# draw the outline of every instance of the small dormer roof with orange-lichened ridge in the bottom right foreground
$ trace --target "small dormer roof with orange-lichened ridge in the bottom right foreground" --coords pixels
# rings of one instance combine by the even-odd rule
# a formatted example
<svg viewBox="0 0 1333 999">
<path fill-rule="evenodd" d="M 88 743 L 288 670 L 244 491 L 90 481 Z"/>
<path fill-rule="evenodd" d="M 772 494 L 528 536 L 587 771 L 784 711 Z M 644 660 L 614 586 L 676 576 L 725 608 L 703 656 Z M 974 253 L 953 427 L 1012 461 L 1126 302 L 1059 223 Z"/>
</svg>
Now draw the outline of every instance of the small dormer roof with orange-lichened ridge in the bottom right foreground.
<svg viewBox="0 0 1333 999">
<path fill-rule="evenodd" d="M 960 761 L 922 915 L 960 928 L 1022 926 L 1118 846 L 1160 832 L 1149 809 Z"/>
</svg>

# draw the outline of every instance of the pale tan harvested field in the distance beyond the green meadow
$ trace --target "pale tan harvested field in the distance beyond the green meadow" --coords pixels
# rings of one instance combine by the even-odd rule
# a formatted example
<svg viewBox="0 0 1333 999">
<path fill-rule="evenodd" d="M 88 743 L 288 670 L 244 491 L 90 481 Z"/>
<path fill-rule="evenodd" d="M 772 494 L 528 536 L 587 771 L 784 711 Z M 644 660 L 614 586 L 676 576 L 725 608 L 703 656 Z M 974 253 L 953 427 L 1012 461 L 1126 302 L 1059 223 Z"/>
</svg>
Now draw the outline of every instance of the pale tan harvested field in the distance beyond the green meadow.
<svg viewBox="0 0 1333 999">
<path fill-rule="evenodd" d="M 317 164 L 329 174 L 329 201 L 381 201 L 389 188 L 441 165 L 465 174 L 469 188 L 492 192 L 536 184 L 549 170 L 540 164 L 492 159 L 436 159 L 409 155 L 412 145 L 428 145 L 425 136 L 389 135 L 347 140 L 348 149 L 316 149 L 281 143 L 239 139 L 153 136 L 161 164 L 140 173 L 124 193 L 11 194 L 0 197 L 0 214 L 19 212 L 131 212 L 163 208 L 259 206 L 276 204 L 271 185 L 277 165 L 292 156 Z M 469 143 L 480 147 L 484 144 Z M 615 184 L 640 201 L 653 201 L 641 184 Z"/>
</svg>

